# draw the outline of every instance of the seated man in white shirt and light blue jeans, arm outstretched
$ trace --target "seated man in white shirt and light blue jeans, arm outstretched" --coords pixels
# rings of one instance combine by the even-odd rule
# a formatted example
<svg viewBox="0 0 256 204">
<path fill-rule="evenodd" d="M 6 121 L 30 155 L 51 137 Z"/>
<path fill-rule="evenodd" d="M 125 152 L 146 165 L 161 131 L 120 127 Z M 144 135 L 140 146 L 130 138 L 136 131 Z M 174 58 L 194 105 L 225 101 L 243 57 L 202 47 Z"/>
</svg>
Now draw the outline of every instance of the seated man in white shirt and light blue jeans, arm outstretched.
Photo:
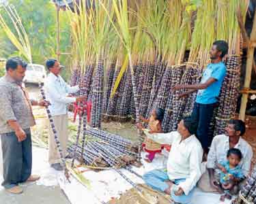
<svg viewBox="0 0 256 204">
<path fill-rule="evenodd" d="M 167 171 L 150 171 L 143 175 L 143 180 L 152 188 L 170 194 L 176 203 L 190 203 L 193 189 L 201 177 L 203 149 L 195 137 L 196 131 L 197 122 L 184 118 L 178 124 L 177 131 L 153 134 L 145 132 L 147 137 L 158 143 L 170 144 L 171 151 Z"/>
</svg>

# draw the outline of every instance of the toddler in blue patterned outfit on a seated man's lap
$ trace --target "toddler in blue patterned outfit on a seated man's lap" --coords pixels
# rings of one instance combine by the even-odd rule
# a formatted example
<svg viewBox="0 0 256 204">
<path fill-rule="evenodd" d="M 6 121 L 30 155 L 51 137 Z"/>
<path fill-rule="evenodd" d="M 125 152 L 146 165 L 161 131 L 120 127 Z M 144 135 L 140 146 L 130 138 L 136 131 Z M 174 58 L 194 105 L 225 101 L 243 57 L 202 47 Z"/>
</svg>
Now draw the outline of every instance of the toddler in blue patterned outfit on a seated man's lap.
<svg viewBox="0 0 256 204">
<path fill-rule="evenodd" d="M 231 148 L 227 151 L 227 160 L 217 164 L 218 169 L 221 169 L 220 177 L 220 192 L 225 192 L 221 196 L 221 201 L 226 199 L 231 199 L 229 190 L 237 191 L 238 183 L 244 178 L 242 173 L 242 168 L 239 163 L 242 159 L 242 153 L 237 148 Z M 236 190 L 237 189 L 237 190 Z"/>
</svg>

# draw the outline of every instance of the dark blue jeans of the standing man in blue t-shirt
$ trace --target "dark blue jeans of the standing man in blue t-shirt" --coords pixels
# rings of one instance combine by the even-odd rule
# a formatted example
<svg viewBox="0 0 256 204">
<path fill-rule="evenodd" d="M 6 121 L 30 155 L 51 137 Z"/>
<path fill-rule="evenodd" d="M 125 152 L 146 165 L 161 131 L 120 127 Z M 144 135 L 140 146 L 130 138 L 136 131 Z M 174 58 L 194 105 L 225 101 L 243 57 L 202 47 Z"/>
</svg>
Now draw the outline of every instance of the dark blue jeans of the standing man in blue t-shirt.
<svg viewBox="0 0 256 204">
<path fill-rule="evenodd" d="M 203 150 L 208 152 L 212 142 L 212 136 L 209 135 L 210 122 L 214 114 L 214 108 L 217 103 L 201 104 L 195 103 L 191 117 L 197 120 L 197 139 L 201 142 Z"/>
</svg>

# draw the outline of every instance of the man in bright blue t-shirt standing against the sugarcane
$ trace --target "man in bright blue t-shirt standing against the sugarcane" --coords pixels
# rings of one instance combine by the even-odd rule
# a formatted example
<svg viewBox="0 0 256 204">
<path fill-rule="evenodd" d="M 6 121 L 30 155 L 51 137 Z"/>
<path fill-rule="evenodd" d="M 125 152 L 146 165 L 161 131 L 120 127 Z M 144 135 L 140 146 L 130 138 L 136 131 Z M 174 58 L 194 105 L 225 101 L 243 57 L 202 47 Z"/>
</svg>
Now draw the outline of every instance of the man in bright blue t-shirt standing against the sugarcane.
<svg viewBox="0 0 256 204">
<path fill-rule="evenodd" d="M 201 142 L 203 151 L 208 154 L 211 139 L 209 139 L 208 131 L 210 121 L 213 116 L 214 107 L 218 102 L 218 95 L 221 91 L 221 85 L 226 75 L 227 68 L 223 63 L 223 57 L 227 54 L 228 44 L 226 41 L 214 41 L 210 50 L 211 63 L 203 71 L 203 77 L 200 84 L 179 84 L 174 86 L 173 90 L 182 88 L 190 89 L 184 92 L 180 97 L 184 97 L 193 92 L 197 92 L 192 117 L 198 121 L 197 138 Z"/>
</svg>

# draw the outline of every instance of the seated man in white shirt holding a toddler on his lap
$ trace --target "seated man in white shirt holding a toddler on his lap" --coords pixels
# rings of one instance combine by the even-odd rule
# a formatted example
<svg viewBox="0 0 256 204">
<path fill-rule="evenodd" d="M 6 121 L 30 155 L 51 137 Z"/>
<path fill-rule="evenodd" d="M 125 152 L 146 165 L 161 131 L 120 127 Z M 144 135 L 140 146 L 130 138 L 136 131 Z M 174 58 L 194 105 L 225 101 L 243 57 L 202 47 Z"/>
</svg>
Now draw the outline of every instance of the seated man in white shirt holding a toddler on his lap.
<svg viewBox="0 0 256 204">
<path fill-rule="evenodd" d="M 217 168 L 217 164 L 225 160 L 227 151 L 230 148 L 237 148 L 242 152 L 242 160 L 240 166 L 242 173 L 247 176 L 251 169 L 251 159 L 253 158 L 253 150 L 251 146 L 242 139 L 245 133 L 245 124 L 242 120 L 229 120 L 223 135 L 216 135 L 212 140 L 210 152 L 208 154 L 207 169 L 203 173 L 198 182 L 198 187 L 205 192 L 218 193 L 218 180 L 220 180 L 221 170 Z M 236 190 L 237 191 L 237 190 Z M 231 194 L 235 192 L 230 191 Z"/>
</svg>

